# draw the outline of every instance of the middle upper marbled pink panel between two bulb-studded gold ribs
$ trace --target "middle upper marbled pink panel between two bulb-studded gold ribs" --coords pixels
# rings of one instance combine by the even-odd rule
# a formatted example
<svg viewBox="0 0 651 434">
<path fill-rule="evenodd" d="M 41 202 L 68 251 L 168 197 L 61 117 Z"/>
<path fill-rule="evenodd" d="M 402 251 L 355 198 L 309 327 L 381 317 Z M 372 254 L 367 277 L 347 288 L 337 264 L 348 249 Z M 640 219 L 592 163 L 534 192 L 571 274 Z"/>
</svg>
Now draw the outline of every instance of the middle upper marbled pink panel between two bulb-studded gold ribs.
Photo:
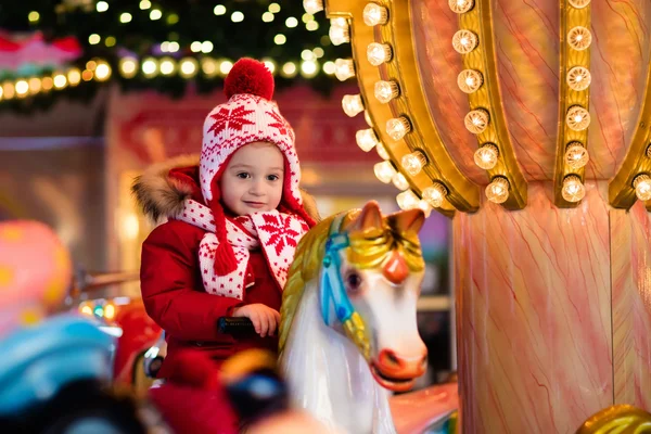
<svg viewBox="0 0 651 434">
<path fill-rule="evenodd" d="M 511 143 L 528 180 L 551 180 L 559 119 L 559 3 L 492 3 L 499 86 Z"/>
</svg>

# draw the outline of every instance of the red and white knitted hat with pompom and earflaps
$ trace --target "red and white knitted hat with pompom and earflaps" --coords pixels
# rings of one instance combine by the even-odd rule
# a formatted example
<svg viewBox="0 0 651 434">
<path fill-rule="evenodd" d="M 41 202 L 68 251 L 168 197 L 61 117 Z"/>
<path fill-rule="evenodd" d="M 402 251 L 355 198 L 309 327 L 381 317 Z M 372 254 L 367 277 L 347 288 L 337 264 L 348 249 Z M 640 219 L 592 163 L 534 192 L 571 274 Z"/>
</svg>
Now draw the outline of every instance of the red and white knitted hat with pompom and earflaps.
<svg viewBox="0 0 651 434">
<path fill-rule="evenodd" d="M 253 59 L 239 60 L 224 82 L 228 102 L 217 105 L 206 116 L 199 176 L 206 205 L 213 210 L 215 234 L 219 241 L 215 271 L 224 276 L 237 267 L 235 256 L 226 238 L 226 219 L 219 202 L 219 179 L 232 154 L 245 144 L 266 141 L 284 155 L 284 180 L 280 210 L 295 214 L 314 226 L 303 208 L 298 190 L 301 167 L 294 150 L 294 131 L 282 117 L 273 97 L 273 76 L 264 63 Z"/>
</svg>

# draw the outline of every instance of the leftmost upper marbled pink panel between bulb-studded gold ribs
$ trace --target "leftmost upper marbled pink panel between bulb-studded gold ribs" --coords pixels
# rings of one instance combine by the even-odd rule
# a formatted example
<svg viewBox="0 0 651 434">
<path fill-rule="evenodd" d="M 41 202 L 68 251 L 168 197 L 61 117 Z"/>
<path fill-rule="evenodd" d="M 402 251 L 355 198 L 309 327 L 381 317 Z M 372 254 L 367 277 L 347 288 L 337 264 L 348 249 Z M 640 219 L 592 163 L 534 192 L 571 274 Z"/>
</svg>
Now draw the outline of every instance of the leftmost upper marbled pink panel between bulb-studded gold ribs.
<svg viewBox="0 0 651 434">
<path fill-rule="evenodd" d="M 411 27 L 432 120 L 459 169 L 474 182 L 486 184 L 486 171 L 474 164 L 477 139 L 463 126 L 470 111 L 468 95 L 457 87 L 463 71 L 461 55 L 452 48 L 459 17 L 441 0 L 411 0 Z"/>
</svg>

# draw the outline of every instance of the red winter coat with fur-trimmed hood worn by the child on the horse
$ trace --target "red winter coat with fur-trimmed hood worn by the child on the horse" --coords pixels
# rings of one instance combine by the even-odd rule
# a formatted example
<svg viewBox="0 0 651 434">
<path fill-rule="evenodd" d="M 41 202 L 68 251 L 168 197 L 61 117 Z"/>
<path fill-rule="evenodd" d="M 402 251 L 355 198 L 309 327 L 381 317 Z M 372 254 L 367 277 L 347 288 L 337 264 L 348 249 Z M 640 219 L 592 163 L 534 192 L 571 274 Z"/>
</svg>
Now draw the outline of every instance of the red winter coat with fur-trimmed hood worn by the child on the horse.
<svg viewBox="0 0 651 434">
<path fill-rule="evenodd" d="M 183 166 L 183 163 L 171 162 L 171 167 Z M 154 218 L 174 215 L 174 206 L 188 196 L 203 203 L 195 181 L 195 167 L 183 169 L 174 178 L 169 178 L 168 174 L 169 168 L 154 167 L 133 186 L 145 213 Z M 161 193 L 162 190 L 166 190 L 166 195 Z M 174 195 L 178 196 L 178 203 L 170 201 Z M 315 217 L 318 218 L 317 215 Z M 276 350 L 278 346 L 277 335 L 235 340 L 218 333 L 219 317 L 230 316 L 238 306 L 261 303 L 280 311 L 282 293 L 261 251 L 251 252 L 248 272 L 253 273 L 255 283 L 245 290 L 243 301 L 206 293 L 197 260 L 199 244 L 204 233 L 195 226 L 170 219 L 155 228 L 142 244 L 142 299 L 146 312 L 165 330 L 167 337 L 167 356 L 159 378 L 169 376 L 169 368 L 166 367 L 174 365 L 173 359 L 181 348 L 205 350 L 219 361 L 245 348 Z"/>
</svg>

